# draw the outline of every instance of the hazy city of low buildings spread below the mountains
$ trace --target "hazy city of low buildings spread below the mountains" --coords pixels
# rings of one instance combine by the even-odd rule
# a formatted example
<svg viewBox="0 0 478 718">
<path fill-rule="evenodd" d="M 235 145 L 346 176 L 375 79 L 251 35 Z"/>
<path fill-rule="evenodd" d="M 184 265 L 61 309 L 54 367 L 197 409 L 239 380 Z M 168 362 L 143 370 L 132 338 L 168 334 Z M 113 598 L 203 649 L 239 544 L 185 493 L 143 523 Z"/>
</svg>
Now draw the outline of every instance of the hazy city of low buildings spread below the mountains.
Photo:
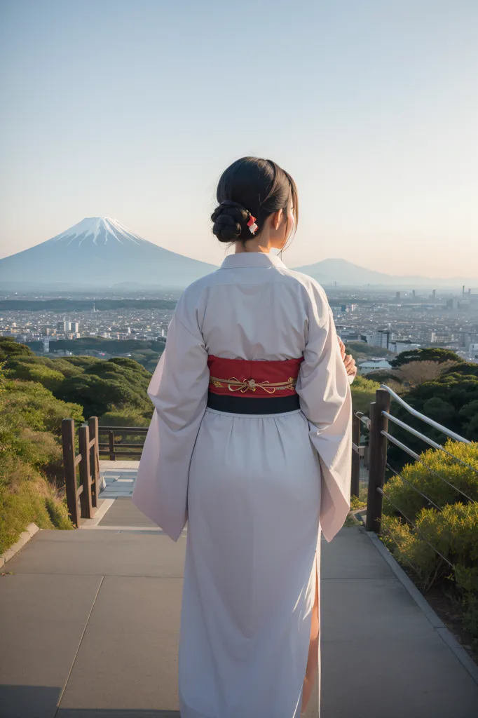
<svg viewBox="0 0 478 718">
<path fill-rule="evenodd" d="M 345 343 L 362 342 L 370 350 L 377 348 L 378 361 L 388 353 L 393 355 L 417 348 L 446 348 L 464 360 L 478 363 L 478 290 L 463 287 L 460 293 L 453 294 L 449 290 L 370 291 L 337 289 L 334 286 L 326 287 L 326 291 L 337 333 L 342 340 Z M 34 303 L 29 304 L 34 309 L 1 308 L 11 307 L 12 300 L 22 304 L 19 300 L 26 296 L 6 294 L 0 297 L 0 335 L 31 345 L 38 355 L 55 357 L 89 353 L 105 359 L 131 356 L 131 340 L 164 344 L 179 294 L 161 291 L 141 293 L 126 301 L 114 294 L 110 304 L 127 304 L 118 309 L 98 309 L 104 294 L 99 301 L 80 297 L 81 304 L 87 308 L 70 311 L 70 304 L 78 304 L 70 297 L 62 299 L 62 310 L 40 308 L 45 300 L 51 299 L 52 294 L 47 297 L 35 295 Z M 144 302 L 151 306 L 140 306 Z M 155 306 L 161 303 L 163 308 Z M 138 308 L 135 304 L 139 305 Z M 164 308 L 164 305 L 167 306 Z M 102 347 L 101 342 L 96 341 L 95 348 L 88 349 L 83 341 L 78 342 L 77 350 L 75 340 L 80 339 L 108 340 L 108 347 Z M 122 345 L 126 341 L 128 344 Z M 68 342 L 67 345 L 65 342 Z M 370 350 L 367 350 L 367 364 L 360 373 L 375 368 Z"/>
</svg>

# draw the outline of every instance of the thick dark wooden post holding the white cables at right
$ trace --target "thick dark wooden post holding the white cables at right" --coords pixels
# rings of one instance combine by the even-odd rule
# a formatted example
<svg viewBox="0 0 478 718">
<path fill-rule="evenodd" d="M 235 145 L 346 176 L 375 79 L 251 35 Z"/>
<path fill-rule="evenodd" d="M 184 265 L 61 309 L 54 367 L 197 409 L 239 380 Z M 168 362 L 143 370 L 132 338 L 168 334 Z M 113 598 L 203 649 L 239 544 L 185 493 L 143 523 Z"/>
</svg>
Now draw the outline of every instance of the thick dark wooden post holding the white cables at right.
<svg viewBox="0 0 478 718">
<path fill-rule="evenodd" d="M 383 489 L 387 463 L 387 439 L 382 432 L 388 431 L 388 419 L 382 416 L 382 411 L 390 411 L 390 394 L 385 389 L 378 389 L 375 401 L 370 404 L 367 522 L 365 526 L 367 531 L 375 531 L 375 533 L 380 533 L 383 503 L 383 496 L 377 489 Z"/>
</svg>

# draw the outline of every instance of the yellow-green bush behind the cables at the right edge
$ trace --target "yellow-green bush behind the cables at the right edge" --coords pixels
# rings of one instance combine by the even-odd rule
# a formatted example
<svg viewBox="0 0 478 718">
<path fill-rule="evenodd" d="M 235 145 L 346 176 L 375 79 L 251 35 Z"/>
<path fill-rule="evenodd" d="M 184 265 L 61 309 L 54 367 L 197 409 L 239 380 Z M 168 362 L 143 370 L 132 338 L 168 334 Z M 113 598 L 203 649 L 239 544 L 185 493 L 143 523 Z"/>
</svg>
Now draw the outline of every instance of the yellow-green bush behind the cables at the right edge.
<svg viewBox="0 0 478 718">
<path fill-rule="evenodd" d="M 403 479 L 394 476 L 386 482 L 383 537 L 425 589 L 454 580 L 464 623 L 478 640 L 478 444 L 449 440 L 445 448 L 464 463 L 429 449 L 421 454 L 423 463 L 403 468 Z"/>
</svg>

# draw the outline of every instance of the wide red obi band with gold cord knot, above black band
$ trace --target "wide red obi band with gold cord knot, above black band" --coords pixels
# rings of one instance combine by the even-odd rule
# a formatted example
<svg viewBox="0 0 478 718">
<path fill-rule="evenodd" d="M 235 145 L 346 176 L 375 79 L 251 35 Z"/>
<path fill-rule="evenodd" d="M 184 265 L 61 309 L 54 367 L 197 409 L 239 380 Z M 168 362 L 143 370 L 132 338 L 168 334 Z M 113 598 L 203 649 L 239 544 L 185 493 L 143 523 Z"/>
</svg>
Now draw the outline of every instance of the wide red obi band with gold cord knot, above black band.
<svg viewBox="0 0 478 718">
<path fill-rule="evenodd" d="M 230 396 L 292 396 L 304 357 L 282 361 L 221 359 L 210 354 L 209 391 Z"/>
</svg>

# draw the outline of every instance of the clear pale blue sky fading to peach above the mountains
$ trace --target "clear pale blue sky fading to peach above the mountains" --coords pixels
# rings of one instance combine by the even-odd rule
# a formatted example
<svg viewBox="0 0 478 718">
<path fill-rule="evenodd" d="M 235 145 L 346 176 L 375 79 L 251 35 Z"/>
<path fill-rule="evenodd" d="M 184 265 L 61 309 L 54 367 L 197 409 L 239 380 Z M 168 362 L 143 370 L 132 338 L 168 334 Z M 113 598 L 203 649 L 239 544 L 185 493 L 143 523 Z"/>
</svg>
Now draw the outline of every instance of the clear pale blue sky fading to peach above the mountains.
<svg viewBox="0 0 478 718">
<path fill-rule="evenodd" d="M 289 266 L 478 275 L 477 0 L 0 0 L 0 256 L 90 216 L 220 263 L 245 154 L 299 185 Z"/>
</svg>

